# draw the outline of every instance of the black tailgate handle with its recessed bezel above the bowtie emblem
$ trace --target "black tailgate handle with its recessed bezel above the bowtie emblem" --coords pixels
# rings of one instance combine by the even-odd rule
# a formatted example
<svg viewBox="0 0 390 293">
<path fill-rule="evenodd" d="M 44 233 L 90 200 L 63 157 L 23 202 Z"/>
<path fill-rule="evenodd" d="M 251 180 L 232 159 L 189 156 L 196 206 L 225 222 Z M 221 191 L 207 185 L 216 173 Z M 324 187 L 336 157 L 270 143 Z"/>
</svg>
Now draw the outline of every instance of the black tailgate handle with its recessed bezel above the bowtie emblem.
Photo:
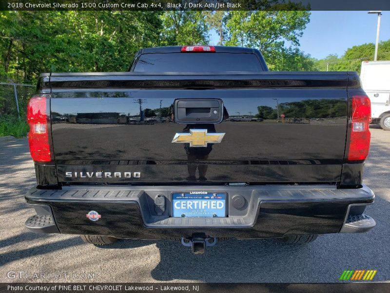
<svg viewBox="0 0 390 293">
<path fill-rule="evenodd" d="M 223 103 L 220 99 L 177 99 L 174 114 L 176 123 L 220 123 Z"/>
</svg>

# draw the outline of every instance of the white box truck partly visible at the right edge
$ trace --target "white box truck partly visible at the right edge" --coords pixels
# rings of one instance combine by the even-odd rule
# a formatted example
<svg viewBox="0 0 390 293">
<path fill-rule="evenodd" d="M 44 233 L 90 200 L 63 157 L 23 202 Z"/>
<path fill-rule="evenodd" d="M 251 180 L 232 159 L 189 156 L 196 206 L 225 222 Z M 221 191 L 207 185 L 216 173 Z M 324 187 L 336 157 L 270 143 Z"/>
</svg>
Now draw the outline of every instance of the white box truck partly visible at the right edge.
<svg viewBox="0 0 390 293">
<path fill-rule="evenodd" d="M 390 61 L 362 62 L 360 79 L 371 100 L 372 122 L 390 130 Z"/>
</svg>

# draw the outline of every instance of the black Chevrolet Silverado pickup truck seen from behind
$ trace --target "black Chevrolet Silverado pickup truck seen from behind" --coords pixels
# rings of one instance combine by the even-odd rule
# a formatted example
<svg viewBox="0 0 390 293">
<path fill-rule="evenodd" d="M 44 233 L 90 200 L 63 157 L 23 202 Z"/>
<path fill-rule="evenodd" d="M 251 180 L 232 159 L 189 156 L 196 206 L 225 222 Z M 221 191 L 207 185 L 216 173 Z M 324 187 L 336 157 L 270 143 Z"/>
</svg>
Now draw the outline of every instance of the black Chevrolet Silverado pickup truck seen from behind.
<svg viewBox="0 0 390 293">
<path fill-rule="evenodd" d="M 147 48 L 129 72 L 41 74 L 27 112 L 33 232 L 204 253 L 375 226 L 356 72 L 270 72 L 251 48 Z"/>
</svg>

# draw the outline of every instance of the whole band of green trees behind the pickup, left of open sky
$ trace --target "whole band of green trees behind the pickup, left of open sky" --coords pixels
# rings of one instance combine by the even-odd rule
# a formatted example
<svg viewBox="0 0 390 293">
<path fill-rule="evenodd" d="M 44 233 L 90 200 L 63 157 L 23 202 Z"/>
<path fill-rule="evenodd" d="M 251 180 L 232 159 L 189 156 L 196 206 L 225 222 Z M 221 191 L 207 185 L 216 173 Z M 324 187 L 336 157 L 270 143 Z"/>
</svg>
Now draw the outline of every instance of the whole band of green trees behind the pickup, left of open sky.
<svg viewBox="0 0 390 293">
<path fill-rule="evenodd" d="M 125 71 L 137 50 L 207 44 L 259 48 L 273 70 L 312 70 L 298 49 L 305 11 L 1 11 L 0 76 L 34 83 L 42 72 Z"/>
</svg>

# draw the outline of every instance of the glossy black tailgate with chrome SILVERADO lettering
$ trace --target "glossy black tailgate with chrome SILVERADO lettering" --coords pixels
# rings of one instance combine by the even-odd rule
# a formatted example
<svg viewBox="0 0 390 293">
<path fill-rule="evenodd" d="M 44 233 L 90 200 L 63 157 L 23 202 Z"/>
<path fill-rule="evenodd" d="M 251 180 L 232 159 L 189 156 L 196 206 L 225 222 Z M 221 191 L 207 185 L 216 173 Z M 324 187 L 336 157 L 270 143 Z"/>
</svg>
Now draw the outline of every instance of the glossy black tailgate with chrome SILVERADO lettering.
<svg viewBox="0 0 390 293">
<path fill-rule="evenodd" d="M 339 182 L 348 82 L 346 72 L 52 74 L 59 182 Z M 221 100 L 222 122 L 176 123 L 177 99 Z M 224 136 L 206 147 L 173 143 L 191 129 Z"/>
</svg>

